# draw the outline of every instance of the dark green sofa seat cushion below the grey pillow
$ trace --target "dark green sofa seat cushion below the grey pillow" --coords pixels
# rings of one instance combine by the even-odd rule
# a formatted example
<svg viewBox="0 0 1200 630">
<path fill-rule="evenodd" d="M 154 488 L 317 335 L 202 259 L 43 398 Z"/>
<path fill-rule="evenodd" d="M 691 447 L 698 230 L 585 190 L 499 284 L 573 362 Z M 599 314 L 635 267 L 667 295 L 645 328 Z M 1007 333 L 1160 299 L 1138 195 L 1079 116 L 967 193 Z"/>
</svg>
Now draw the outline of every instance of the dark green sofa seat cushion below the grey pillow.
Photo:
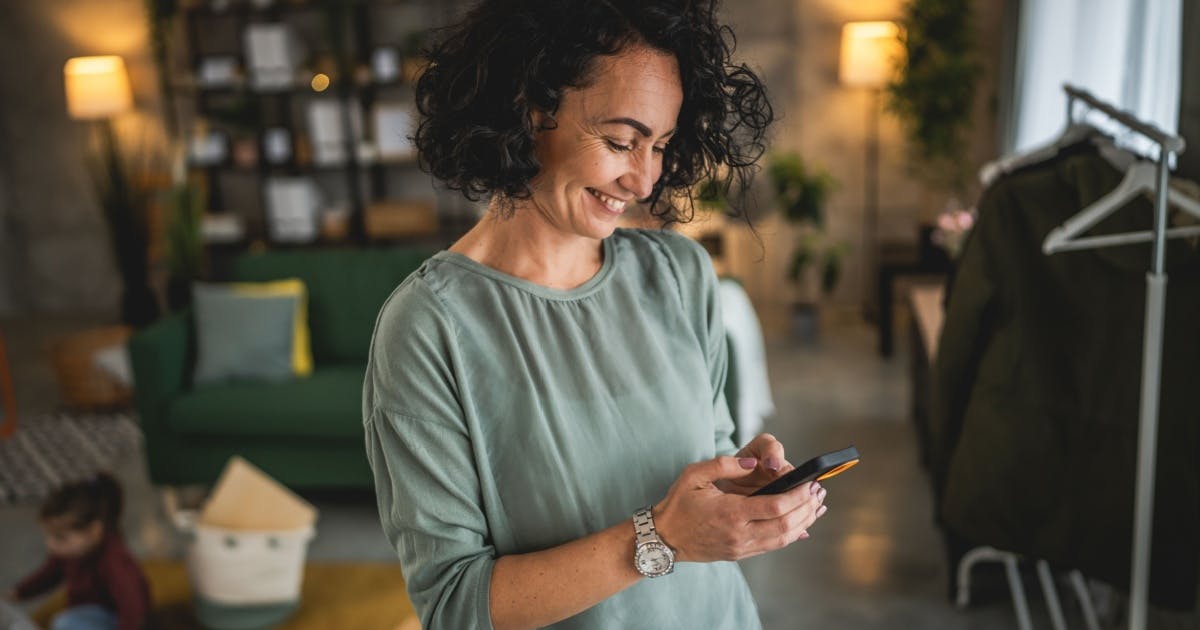
<svg viewBox="0 0 1200 630">
<path fill-rule="evenodd" d="M 198 386 L 175 400 L 167 424 L 184 436 L 361 439 L 365 373 L 365 365 L 318 365 L 283 383 Z"/>
</svg>

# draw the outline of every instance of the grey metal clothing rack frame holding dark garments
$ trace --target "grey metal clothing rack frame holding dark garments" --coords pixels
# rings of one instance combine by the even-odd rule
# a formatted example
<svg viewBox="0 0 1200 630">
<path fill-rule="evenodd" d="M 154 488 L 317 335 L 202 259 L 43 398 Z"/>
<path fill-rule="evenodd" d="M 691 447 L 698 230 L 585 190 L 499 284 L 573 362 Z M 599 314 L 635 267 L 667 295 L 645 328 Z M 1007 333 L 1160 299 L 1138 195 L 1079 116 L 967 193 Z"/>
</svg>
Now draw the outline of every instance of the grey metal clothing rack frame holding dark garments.
<svg viewBox="0 0 1200 630">
<path fill-rule="evenodd" d="M 1182 137 L 1168 133 L 1117 109 L 1091 92 L 1063 84 L 1067 92 L 1067 122 L 1075 122 L 1075 104 L 1093 110 L 1151 139 L 1159 146 L 1154 182 L 1153 257 L 1146 274 L 1146 320 L 1144 324 L 1141 413 L 1138 433 L 1138 480 L 1134 499 L 1133 565 L 1129 589 L 1129 629 L 1145 630 L 1150 590 L 1150 547 L 1154 516 L 1154 472 L 1158 446 L 1158 403 L 1163 371 L 1163 322 L 1166 302 L 1166 193 L 1171 155 L 1187 148 Z M 1055 250 L 1061 251 L 1061 250 Z"/>
</svg>

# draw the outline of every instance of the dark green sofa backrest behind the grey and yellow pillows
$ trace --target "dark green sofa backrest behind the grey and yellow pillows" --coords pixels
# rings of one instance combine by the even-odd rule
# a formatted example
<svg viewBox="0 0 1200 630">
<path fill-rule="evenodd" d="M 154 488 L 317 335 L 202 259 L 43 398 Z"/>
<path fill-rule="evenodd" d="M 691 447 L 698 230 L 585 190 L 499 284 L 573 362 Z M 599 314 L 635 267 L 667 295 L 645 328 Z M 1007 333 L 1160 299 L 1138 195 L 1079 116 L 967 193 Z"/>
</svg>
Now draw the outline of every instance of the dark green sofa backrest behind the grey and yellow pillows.
<svg viewBox="0 0 1200 630">
<path fill-rule="evenodd" d="M 432 252 L 386 250 L 290 250 L 239 257 L 234 280 L 298 277 L 308 288 L 308 328 L 317 365 L 367 360 L 376 316 L 391 292 Z"/>
</svg>

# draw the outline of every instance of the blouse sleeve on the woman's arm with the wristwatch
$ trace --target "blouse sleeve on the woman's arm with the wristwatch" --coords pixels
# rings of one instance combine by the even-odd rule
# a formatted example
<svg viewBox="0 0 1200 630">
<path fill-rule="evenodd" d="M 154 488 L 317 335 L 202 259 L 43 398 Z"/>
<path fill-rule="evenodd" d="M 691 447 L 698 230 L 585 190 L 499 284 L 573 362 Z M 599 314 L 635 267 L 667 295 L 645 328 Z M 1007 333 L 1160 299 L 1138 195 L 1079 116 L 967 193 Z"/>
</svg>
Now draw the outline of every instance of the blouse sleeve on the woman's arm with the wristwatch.
<svg viewBox="0 0 1200 630">
<path fill-rule="evenodd" d="M 454 353 L 437 298 L 409 278 L 376 323 L 362 397 L 366 454 L 421 628 L 490 629 L 496 551 Z"/>
</svg>

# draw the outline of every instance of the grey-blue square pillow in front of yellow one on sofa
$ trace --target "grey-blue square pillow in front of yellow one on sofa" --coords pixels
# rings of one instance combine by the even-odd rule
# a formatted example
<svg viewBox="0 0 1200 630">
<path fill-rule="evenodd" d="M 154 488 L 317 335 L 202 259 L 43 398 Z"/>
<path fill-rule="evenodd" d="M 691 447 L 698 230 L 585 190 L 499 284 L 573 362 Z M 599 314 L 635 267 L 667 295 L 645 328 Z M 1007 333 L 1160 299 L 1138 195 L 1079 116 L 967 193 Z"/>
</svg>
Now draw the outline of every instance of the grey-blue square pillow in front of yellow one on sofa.
<svg viewBox="0 0 1200 630">
<path fill-rule="evenodd" d="M 295 295 L 247 295 L 221 284 L 192 287 L 197 360 L 193 383 L 292 378 Z"/>
</svg>

